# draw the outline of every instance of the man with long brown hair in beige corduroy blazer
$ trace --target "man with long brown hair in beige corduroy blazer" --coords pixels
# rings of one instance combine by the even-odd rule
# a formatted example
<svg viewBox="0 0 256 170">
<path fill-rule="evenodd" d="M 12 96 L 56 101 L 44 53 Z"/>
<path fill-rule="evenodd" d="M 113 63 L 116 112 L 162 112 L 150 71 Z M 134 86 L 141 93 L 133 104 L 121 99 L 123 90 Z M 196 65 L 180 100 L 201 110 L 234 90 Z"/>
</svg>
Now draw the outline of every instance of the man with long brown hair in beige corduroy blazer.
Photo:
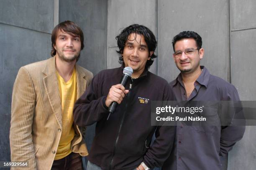
<svg viewBox="0 0 256 170">
<path fill-rule="evenodd" d="M 11 160 L 37 170 L 80 170 L 88 155 L 74 124 L 74 102 L 83 94 L 92 73 L 76 64 L 84 48 L 81 28 L 59 23 L 51 35 L 51 58 L 20 68 L 13 86 Z"/>
</svg>

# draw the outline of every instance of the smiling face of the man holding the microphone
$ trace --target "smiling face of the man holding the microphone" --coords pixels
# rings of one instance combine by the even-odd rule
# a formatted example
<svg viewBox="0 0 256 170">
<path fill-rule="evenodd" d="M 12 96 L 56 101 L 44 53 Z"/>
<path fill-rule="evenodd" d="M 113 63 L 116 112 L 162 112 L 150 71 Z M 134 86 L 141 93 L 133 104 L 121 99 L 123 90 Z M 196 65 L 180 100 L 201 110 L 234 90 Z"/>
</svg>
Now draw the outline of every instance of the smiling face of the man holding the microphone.
<svg viewBox="0 0 256 170">
<path fill-rule="evenodd" d="M 153 51 L 148 52 L 148 46 L 143 35 L 131 33 L 123 49 L 125 67 L 133 69 L 133 77 L 139 77 L 145 69 L 146 62 L 150 60 Z"/>
</svg>

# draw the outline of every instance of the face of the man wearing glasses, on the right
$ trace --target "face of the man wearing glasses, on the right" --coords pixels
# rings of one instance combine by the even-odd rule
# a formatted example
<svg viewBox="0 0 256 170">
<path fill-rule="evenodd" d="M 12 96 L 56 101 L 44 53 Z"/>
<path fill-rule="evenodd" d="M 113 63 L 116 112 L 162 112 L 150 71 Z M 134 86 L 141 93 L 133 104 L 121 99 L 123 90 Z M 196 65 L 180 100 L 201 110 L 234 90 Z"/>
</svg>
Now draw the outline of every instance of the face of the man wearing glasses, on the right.
<svg viewBox="0 0 256 170">
<path fill-rule="evenodd" d="M 200 69 L 200 60 L 204 55 L 203 48 L 196 50 L 192 55 L 186 55 L 183 51 L 189 48 L 197 49 L 196 41 L 193 38 L 184 38 L 174 45 L 175 51 L 182 51 L 182 55 L 179 57 L 173 55 L 175 64 L 182 73 L 194 73 Z"/>
</svg>

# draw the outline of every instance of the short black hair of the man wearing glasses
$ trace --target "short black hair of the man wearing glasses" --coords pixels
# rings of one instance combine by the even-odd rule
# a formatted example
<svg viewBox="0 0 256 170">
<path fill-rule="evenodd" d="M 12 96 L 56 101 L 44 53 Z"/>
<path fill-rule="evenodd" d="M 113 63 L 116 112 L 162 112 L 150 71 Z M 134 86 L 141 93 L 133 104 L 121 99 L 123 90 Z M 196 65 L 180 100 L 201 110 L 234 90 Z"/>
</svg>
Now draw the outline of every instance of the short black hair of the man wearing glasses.
<svg viewBox="0 0 256 170">
<path fill-rule="evenodd" d="M 193 38 L 197 43 L 198 51 L 200 48 L 202 48 L 202 38 L 198 33 L 194 32 L 194 31 L 183 31 L 183 32 L 179 33 L 178 35 L 174 36 L 174 38 L 172 39 L 173 51 L 175 51 L 174 50 L 175 43 L 184 38 Z"/>
</svg>

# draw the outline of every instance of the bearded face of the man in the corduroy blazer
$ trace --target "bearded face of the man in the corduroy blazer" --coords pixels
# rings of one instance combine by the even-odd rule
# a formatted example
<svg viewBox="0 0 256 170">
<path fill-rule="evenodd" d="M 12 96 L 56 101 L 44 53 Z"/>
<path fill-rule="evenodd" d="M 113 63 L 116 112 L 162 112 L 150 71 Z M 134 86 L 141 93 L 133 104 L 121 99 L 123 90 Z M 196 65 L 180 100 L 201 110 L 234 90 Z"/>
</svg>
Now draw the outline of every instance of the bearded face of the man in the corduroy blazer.
<svg viewBox="0 0 256 170">
<path fill-rule="evenodd" d="M 56 36 L 56 57 L 62 61 L 76 61 L 81 51 L 81 41 L 79 36 L 70 35 L 62 30 Z"/>
</svg>

